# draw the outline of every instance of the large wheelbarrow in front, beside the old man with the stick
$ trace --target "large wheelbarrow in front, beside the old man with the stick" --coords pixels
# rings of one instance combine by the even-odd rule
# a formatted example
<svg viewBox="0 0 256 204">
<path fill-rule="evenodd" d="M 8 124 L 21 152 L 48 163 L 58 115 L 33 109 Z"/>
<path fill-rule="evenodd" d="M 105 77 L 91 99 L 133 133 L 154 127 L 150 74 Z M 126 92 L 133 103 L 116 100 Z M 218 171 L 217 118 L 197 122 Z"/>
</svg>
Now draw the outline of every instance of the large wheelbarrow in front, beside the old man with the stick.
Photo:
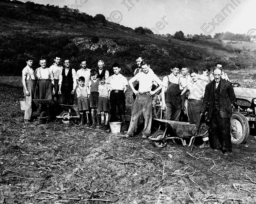
<svg viewBox="0 0 256 204">
<path fill-rule="evenodd" d="M 160 123 L 158 131 L 156 131 L 149 139 L 152 141 L 152 145 L 158 148 L 164 148 L 167 146 L 169 140 L 172 140 L 174 143 L 174 139 L 178 139 L 181 141 L 183 147 L 186 147 L 186 140 L 190 138 L 189 147 L 192 144 L 194 137 L 202 137 L 208 133 L 208 130 L 201 134 L 202 125 L 199 124 L 199 128 L 197 130 L 196 124 L 190 124 L 189 122 L 180 122 L 180 121 L 169 121 L 164 119 L 154 120 Z M 164 130 L 160 130 L 163 129 Z M 196 133 L 197 132 L 197 133 Z"/>
</svg>

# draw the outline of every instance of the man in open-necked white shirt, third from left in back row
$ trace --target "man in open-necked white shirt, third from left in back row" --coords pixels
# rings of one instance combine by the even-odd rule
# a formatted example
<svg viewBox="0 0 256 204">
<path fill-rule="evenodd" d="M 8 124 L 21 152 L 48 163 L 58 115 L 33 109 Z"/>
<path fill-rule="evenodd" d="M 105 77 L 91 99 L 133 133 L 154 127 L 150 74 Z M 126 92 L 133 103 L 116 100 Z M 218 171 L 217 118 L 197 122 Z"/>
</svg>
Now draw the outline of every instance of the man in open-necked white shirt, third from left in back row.
<svg viewBox="0 0 256 204">
<path fill-rule="evenodd" d="M 49 69 L 53 73 L 54 77 L 54 84 L 55 84 L 55 94 L 54 94 L 54 100 L 59 101 L 59 79 L 62 74 L 63 67 L 60 65 L 61 57 L 57 54 L 54 56 L 54 63 L 52 66 L 49 67 Z"/>
</svg>

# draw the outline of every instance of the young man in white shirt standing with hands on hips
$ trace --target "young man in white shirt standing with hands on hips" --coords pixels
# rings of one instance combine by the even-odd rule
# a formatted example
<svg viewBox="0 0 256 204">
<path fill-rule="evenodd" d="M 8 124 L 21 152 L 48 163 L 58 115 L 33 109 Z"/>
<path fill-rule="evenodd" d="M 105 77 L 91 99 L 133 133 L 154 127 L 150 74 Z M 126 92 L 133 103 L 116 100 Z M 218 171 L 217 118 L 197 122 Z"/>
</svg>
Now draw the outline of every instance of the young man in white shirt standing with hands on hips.
<svg viewBox="0 0 256 204">
<path fill-rule="evenodd" d="M 142 131 L 142 139 L 147 139 L 147 137 L 151 135 L 152 95 L 162 89 L 162 81 L 154 73 L 149 72 L 150 65 L 146 60 L 142 61 L 140 66 L 143 72 L 136 74 L 129 80 L 129 85 L 132 88 L 133 93 L 136 95 L 136 99 L 127 136 L 133 137 L 140 114 L 143 112 L 145 123 Z M 134 81 L 139 82 L 138 90 L 135 90 L 133 87 Z M 156 90 L 151 91 L 153 82 L 158 83 L 159 87 Z"/>
</svg>

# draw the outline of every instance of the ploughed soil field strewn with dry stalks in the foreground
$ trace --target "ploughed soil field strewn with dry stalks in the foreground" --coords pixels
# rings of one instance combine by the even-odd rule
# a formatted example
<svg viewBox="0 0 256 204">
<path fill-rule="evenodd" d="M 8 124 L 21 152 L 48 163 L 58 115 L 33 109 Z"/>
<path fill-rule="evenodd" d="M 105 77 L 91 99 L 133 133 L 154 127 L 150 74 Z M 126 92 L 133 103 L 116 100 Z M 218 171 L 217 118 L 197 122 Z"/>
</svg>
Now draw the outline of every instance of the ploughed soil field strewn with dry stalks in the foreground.
<svg viewBox="0 0 256 204">
<path fill-rule="evenodd" d="M 24 124 L 23 89 L 0 85 L 0 98 L 0 203 L 256 203 L 252 132 L 229 157 L 172 142 L 155 148 L 141 133 Z"/>
</svg>

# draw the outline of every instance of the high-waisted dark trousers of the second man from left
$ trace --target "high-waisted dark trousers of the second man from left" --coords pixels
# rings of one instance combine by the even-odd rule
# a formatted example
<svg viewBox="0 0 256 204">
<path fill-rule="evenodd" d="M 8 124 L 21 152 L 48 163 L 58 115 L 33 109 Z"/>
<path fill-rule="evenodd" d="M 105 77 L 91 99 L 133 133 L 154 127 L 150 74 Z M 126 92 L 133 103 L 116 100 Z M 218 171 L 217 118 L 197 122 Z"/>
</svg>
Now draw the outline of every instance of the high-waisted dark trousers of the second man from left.
<svg viewBox="0 0 256 204">
<path fill-rule="evenodd" d="M 50 79 L 39 79 L 39 99 L 52 99 L 52 81 Z"/>
</svg>

